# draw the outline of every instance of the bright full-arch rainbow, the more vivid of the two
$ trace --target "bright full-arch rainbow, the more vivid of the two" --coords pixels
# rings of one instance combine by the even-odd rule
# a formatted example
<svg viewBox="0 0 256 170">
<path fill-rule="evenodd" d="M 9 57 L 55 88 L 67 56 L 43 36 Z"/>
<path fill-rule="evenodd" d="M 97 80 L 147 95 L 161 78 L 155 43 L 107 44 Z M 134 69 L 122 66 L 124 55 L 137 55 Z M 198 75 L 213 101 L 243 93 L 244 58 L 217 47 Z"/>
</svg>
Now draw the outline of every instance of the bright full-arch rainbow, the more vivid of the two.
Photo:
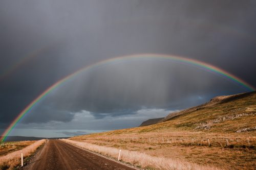
<svg viewBox="0 0 256 170">
<path fill-rule="evenodd" d="M 139 61 L 139 60 L 145 60 L 145 59 L 164 59 L 168 61 L 178 62 L 182 64 L 188 64 L 191 66 L 196 66 L 199 68 L 206 69 L 208 71 L 217 73 L 221 75 L 222 77 L 225 77 L 243 87 L 248 89 L 249 91 L 254 91 L 254 87 L 243 81 L 242 79 L 230 74 L 229 72 L 218 68 L 214 65 L 207 64 L 205 62 L 201 62 L 195 59 L 189 59 L 184 57 L 178 57 L 178 56 L 170 56 L 170 55 L 161 55 L 161 54 L 139 54 L 139 55 L 131 55 L 131 56 L 122 56 L 122 57 L 115 57 L 107 60 L 99 61 L 95 64 L 91 64 L 85 67 L 82 67 L 81 69 L 73 72 L 72 74 L 66 76 L 65 78 L 57 81 L 52 86 L 47 88 L 43 93 L 41 93 L 36 99 L 34 99 L 22 112 L 18 114 L 18 116 L 13 120 L 13 122 L 9 125 L 9 127 L 5 130 L 5 132 L 2 134 L 2 137 L 0 138 L 0 141 L 5 141 L 6 137 L 10 134 L 10 132 L 16 127 L 16 125 L 20 122 L 20 120 L 30 112 L 30 110 L 43 98 L 45 98 L 51 91 L 58 88 L 61 84 L 67 82 L 71 78 L 74 78 L 81 74 L 83 71 L 89 71 L 94 70 L 100 66 L 109 65 L 109 64 L 116 64 L 126 61 Z"/>
</svg>

